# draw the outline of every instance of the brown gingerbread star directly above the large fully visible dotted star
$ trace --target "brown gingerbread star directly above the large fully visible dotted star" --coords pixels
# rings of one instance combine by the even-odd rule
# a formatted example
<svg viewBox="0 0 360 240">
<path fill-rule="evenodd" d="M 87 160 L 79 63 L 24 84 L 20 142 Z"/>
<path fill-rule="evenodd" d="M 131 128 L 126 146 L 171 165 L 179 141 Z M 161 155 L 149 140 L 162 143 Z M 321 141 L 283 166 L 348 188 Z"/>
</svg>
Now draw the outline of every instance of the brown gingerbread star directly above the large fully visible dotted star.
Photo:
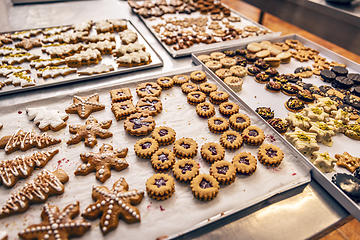
<svg viewBox="0 0 360 240">
<path fill-rule="evenodd" d="M 80 154 L 84 164 L 81 164 L 74 174 L 85 176 L 95 171 L 96 178 L 103 183 L 111 177 L 110 168 L 121 171 L 129 166 L 124 159 L 127 152 L 127 148 L 113 150 L 111 145 L 104 143 L 100 147 L 99 153 L 88 152 Z"/>
</svg>

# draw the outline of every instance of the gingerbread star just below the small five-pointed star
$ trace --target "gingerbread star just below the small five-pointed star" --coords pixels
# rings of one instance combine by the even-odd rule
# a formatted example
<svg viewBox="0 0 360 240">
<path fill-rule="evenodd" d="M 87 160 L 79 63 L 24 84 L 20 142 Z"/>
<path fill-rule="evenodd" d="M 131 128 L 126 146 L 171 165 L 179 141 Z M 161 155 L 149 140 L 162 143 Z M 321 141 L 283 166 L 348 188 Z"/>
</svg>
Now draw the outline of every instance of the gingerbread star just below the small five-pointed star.
<svg viewBox="0 0 360 240">
<path fill-rule="evenodd" d="M 94 147 L 97 144 L 96 137 L 109 138 L 113 135 L 109 130 L 105 130 L 111 126 L 111 123 L 111 120 L 99 123 L 98 120 L 90 116 L 85 125 L 70 125 L 69 132 L 75 135 L 66 144 L 77 144 L 85 140 L 85 146 Z"/>
</svg>

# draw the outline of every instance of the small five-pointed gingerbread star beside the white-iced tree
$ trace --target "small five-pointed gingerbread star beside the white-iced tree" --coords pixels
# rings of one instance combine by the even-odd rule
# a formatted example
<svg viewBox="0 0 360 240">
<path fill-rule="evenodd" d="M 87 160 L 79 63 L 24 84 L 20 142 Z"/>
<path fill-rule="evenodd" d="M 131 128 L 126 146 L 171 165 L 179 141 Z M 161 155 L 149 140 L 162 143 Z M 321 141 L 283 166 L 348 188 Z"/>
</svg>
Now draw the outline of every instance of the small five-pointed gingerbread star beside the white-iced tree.
<svg viewBox="0 0 360 240">
<path fill-rule="evenodd" d="M 99 103 L 99 94 L 94 93 L 88 97 L 74 96 L 73 104 L 65 109 L 67 113 L 77 113 L 80 118 L 86 119 L 92 112 L 105 109 L 105 105 Z"/>
</svg>

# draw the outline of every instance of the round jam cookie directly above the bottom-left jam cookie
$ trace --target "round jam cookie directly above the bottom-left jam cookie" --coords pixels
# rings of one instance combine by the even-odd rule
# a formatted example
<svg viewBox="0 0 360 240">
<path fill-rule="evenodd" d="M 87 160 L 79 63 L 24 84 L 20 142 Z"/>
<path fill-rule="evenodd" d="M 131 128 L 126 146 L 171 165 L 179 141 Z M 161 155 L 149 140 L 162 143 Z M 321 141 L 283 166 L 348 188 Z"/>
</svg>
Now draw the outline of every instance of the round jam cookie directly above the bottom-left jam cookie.
<svg viewBox="0 0 360 240">
<path fill-rule="evenodd" d="M 167 148 L 161 148 L 151 156 L 151 166 L 157 172 L 170 169 L 174 163 L 175 155 Z"/>
</svg>

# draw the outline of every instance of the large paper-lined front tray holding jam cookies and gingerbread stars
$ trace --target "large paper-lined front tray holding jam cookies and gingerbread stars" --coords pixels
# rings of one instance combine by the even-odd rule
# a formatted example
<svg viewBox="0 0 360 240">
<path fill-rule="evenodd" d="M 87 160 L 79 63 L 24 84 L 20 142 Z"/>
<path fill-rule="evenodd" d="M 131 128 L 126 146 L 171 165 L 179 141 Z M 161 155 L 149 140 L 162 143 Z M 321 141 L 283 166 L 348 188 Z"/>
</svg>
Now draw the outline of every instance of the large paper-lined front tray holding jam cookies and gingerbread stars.
<svg viewBox="0 0 360 240">
<path fill-rule="evenodd" d="M 91 199 L 91 188 L 93 185 L 104 185 L 111 188 L 112 184 L 119 179 L 120 176 L 126 179 L 130 189 L 145 190 L 146 180 L 152 176 L 155 171 L 151 168 L 149 160 L 141 159 L 135 155 L 133 146 L 136 141 L 141 139 L 141 137 L 128 135 L 123 129 L 123 121 L 117 122 L 115 120 L 115 117 L 110 110 L 111 99 L 108 92 L 116 88 L 129 87 L 133 95 L 134 103 L 136 103 L 137 99 L 139 99 L 135 93 L 135 86 L 137 84 L 155 81 L 161 76 L 190 74 L 192 71 L 201 69 L 203 68 L 198 66 L 136 80 L 129 79 L 113 85 L 106 85 L 104 83 L 102 86 L 96 87 L 96 91 L 100 95 L 100 102 L 105 104 L 106 109 L 95 112 L 92 115 L 99 121 L 113 120 L 113 125 L 109 130 L 114 136 L 109 139 L 98 139 L 98 146 L 90 149 L 84 147 L 83 142 L 77 145 L 66 146 L 64 142 L 72 135 L 68 133 L 67 128 L 62 129 L 59 132 L 48 132 L 52 136 L 61 138 L 63 143 L 59 146 L 54 145 L 43 149 L 60 149 L 59 154 L 45 166 L 45 169 L 53 171 L 54 169 L 62 168 L 69 174 L 70 180 L 65 184 L 65 193 L 63 195 L 50 197 L 47 202 L 63 208 L 73 201 L 79 200 L 81 202 L 80 211 L 83 211 L 88 204 L 93 203 L 93 200 Z M 124 239 L 143 239 L 144 236 L 146 236 L 146 239 L 156 239 L 160 236 L 175 238 L 176 236 L 198 229 L 219 219 L 223 219 L 232 213 L 241 211 L 273 195 L 308 183 L 311 180 L 309 174 L 310 168 L 307 166 L 307 161 L 304 160 L 302 155 L 297 151 L 294 151 L 293 148 L 288 148 L 288 143 L 272 128 L 264 125 L 263 121 L 254 114 L 250 108 L 246 105 L 242 105 L 241 99 L 229 91 L 227 86 L 218 84 L 211 74 L 208 75 L 208 81 L 215 83 L 220 90 L 229 92 L 230 100 L 237 102 L 240 105 L 241 112 L 250 116 L 252 124 L 257 125 L 264 130 L 267 136 L 265 142 L 269 142 L 270 139 L 276 141 L 273 143 L 279 146 L 285 154 L 285 158 L 281 165 L 272 168 L 259 163 L 257 170 L 253 175 L 237 176 L 237 179 L 233 184 L 222 186 L 218 196 L 211 202 L 202 202 L 195 199 L 191 193 L 189 184 L 176 181 L 176 191 L 168 200 L 155 201 L 145 195 L 143 201 L 137 205 L 141 213 L 141 223 L 126 224 L 120 220 L 118 228 L 103 237 L 98 226 L 99 220 L 95 220 L 92 222 L 92 230 L 86 233 L 83 236 L 84 238 L 118 239 L 118 234 L 121 234 Z M 94 86 L 88 85 L 87 87 L 77 90 L 67 89 L 56 93 L 47 91 L 47 94 L 42 93 L 39 98 L 36 98 L 35 93 L 31 94 L 32 96 L 29 94 L 26 99 L 16 96 L 5 97 L 3 101 L 0 102 L 3 113 L 0 116 L 0 122 L 4 124 L 3 130 L 0 132 L 1 136 L 12 134 L 20 127 L 23 130 L 34 129 L 39 133 L 39 130 L 34 126 L 33 122 L 27 119 L 25 114 L 25 108 L 27 107 L 46 106 L 48 108 L 51 107 L 51 109 L 62 110 L 71 104 L 72 96 L 74 94 L 87 96 L 93 93 Z M 169 90 L 163 91 L 160 99 L 163 104 L 163 110 L 159 115 L 154 117 L 157 126 L 166 125 L 173 128 L 176 131 L 177 138 L 193 138 L 198 143 L 198 149 L 200 149 L 205 142 L 219 141 L 220 135 L 211 133 L 208 130 L 207 119 L 197 116 L 195 107 L 187 103 L 186 95 L 181 92 L 179 87 L 174 86 Z M 9 102 L 13 102 L 14 105 L 11 106 Z M 84 121 L 76 114 L 69 115 L 70 117 L 67 124 L 84 123 Z M 218 111 L 216 115 L 219 115 Z M 7 119 L 17 120 L 9 123 Z M 94 173 L 91 173 L 88 176 L 75 177 L 73 172 L 77 166 L 81 164 L 79 154 L 89 151 L 98 152 L 98 148 L 105 142 L 113 145 L 114 148 L 127 147 L 129 152 L 126 160 L 130 166 L 120 172 L 112 170 L 111 178 L 104 184 L 101 184 L 95 179 Z M 171 146 L 168 148 L 172 149 Z M 257 147 L 244 144 L 237 151 L 226 150 L 225 160 L 231 161 L 232 157 L 241 151 L 251 152 L 253 155 L 256 155 L 257 149 Z M 32 151 L 35 150 L 29 150 L 26 153 L 21 152 L 20 154 L 27 155 Z M 5 155 L 4 151 L 0 150 L 1 159 L 12 159 L 16 154 L 19 153 Z M 198 150 L 198 154 L 194 159 L 199 163 L 200 173 L 209 172 L 210 165 L 201 159 L 200 150 Z M 35 171 L 33 176 L 38 172 L 39 170 Z M 172 175 L 171 171 L 167 173 Z M 24 183 L 25 180 L 21 180 L 14 189 L 10 190 L 0 187 L 0 204 L 2 205 L 10 193 L 19 189 Z M 236 201 L 234 201 L 235 199 Z M 10 238 L 14 238 L 17 232 L 29 225 L 30 222 L 40 222 L 40 212 L 42 207 L 43 204 L 32 205 L 26 213 L 2 219 L 0 220 L 0 223 L 2 226 L 7 226 L 6 229 L 9 232 Z"/>
</svg>

